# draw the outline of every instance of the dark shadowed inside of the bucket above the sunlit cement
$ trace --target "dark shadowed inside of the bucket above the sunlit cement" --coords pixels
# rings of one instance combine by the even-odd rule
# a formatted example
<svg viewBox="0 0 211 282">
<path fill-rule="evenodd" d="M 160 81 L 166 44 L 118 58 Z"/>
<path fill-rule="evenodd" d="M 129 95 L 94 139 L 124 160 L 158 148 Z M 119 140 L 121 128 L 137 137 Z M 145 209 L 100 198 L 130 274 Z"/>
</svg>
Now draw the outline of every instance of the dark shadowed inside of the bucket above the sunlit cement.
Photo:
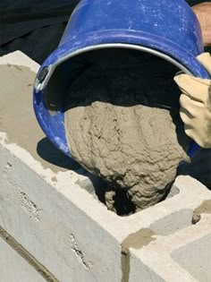
<svg viewBox="0 0 211 282">
<path fill-rule="evenodd" d="M 72 56 L 56 67 L 46 86 L 45 105 L 51 115 L 60 115 L 70 107 L 104 101 L 105 97 L 100 97 L 100 93 L 91 98 L 86 94 L 86 88 L 90 88 L 90 84 L 94 87 L 97 79 L 101 81 L 99 85 L 103 83 L 112 93 L 108 102 L 123 107 L 145 105 L 169 109 L 177 131 L 183 132 L 179 116 L 180 90 L 173 81 L 179 71 L 164 58 L 139 50 L 120 47 L 91 50 Z M 178 134 L 178 141 L 186 151 L 189 149 L 190 140 L 185 134 Z"/>
</svg>

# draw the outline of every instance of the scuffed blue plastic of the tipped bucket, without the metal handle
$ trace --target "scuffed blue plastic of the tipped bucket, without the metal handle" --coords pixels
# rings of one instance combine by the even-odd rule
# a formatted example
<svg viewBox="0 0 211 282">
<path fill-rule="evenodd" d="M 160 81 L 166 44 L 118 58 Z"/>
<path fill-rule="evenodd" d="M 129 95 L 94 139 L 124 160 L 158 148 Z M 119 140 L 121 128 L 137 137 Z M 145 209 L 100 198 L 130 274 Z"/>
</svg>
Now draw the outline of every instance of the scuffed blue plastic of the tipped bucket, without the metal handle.
<svg viewBox="0 0 211 282">
<path fill-rule="evenodd" d="M 196 56 L 204 50 L 196 15 L 183 0 L 82 0 L 72 13 L 59 47 L 39 73 L 84 47 L 124 43 L 149 47 L 171 56 L 190 73 L 209 78 Z M 63 112 L 50 115 L 43 90 L 34 90 L 34 109 L 43 131 L 55 146 L 71 157 L 64 132 Z M 192 142 L 189 155 L 199 146 Z"/>
</svg>

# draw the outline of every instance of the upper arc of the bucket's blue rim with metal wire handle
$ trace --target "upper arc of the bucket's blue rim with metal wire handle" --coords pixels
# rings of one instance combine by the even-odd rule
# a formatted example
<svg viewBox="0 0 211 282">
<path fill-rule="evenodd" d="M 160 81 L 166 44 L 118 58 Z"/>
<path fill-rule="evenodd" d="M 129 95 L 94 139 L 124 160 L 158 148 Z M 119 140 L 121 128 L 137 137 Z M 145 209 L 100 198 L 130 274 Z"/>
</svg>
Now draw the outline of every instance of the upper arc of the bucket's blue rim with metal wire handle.
<svg viewBox="0 0 211 282">
<path fill-rule="evenodd" d="M 158 37 L 144 31 L 118 30 L 117 34 L 116 30 L 100 30 L 89 32 L 81 38 L 71 38 L 55 49 L 55 52 L 46 58 L 46 61 L 42 64 L 38 72 L 34 84 L 36 92 L 46 88 L 47 82 L 59 64 L 62 64 L 73 56 L 79 56 L 89 51 L 109 47 L 136 49 L 159 56 L 178 66 L 184 73 L 201 78 L 209 78 L 204 66 L 199 63 L 195 56 L 169 39 Z"/>
</svg>

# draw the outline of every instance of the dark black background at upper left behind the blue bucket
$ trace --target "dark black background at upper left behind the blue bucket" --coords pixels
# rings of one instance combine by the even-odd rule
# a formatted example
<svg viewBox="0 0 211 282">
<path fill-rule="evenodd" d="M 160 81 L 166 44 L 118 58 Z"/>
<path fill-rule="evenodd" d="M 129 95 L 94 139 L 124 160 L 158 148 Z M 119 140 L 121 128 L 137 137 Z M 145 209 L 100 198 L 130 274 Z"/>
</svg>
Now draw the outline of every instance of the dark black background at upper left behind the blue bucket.
<svg viewBox="0 0 211 282">
<path fill-rule="evenodd" d="M 16 50 L 42 64 L 58 46 L 79 0 L 1 0 L 0 56 Z M 188 0 L 194 5 L 205 1 Z"/>
</svg>

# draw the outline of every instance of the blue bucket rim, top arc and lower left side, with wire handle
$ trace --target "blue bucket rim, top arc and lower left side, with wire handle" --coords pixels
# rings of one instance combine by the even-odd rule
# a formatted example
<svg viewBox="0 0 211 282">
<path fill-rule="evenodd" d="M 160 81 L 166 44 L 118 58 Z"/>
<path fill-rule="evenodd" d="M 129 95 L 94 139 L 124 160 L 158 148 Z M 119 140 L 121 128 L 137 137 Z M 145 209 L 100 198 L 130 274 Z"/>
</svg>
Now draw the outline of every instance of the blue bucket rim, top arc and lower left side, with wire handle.
<svg viewBox="0 0 211 282">
<path fill-rule="evenodd" d="M 137 35 L 137 33 L 139 34 Z M 92 32 L 91 34 L 87 35 L 86 38 L 73 38 L 72 40 L 69 40 L 68 42 L 58 47 L 55 52 L 53 52 L 46 59 L 44 64 L 42 64 L 38 72 L 34 85 L 35 112 L 37 114 L 39 112 L 37 98 L 40 95 L 38 94 L 45 90 L 47 82 L 50 80 L 52 74 L 55 72 L 55 68 L 59 64 L 62 64 L 73 56 L 79 56 L 80 54 L 100 48 L 103 49 L 105 47 L 124 47 L 136 49 L 142 52 L 148 52 L 150 54 L 154 54 L 155 56 L 160 56 L 168 62 L 176 65 L 182 72 L 189 73 L 190 75 L 198 76 L 201 78 L 209 78 L 207 71 L 202 66 L 202 64 L 199 63 L 198 59 L 195 56 L 191 55 L 190 52 L 185 50 L 183 47 L 180 47 L 165 38 L 154 36 L 152 39 L 151 34 L 149 37 L 149 35 L 146 36 L 146 34 L 144 34 L 143 36 L 143 34 L 141 33 L 141 38 L 140 33 L 141 32 L 135 32 L 134 34 L 134 32 L 131 32 L 131 30 L 123 30 L 122 33 L 118 35 L 116 35 L 116 32 L 105 32 L 105 30 L 97 33 Z M 106 37 L 102 36 L 103 34 L 105 34 Z M 131 36 L 131 34 L 133 34 L 133 36 Z M 182 60 L 181 58 L 185 59 Z M 192 65 L 194 65 L 194 67 L 192 67 Z M 43 106 L 44 105 L 42 105 L 42 110 L 44 110 Z M 61 121 L 63 121 L 64 119 L 63 113 L 57 113 L 56 115 L 58 116 L 57 122 L 61 123 Z M 68 150 L 64 129 L 62 129 L 63 138 L 61 138 L 61 129 L 50 129 L 52 126 L 50 121 L 48 121 L 47 119 L 44 120 L 43 118 L 41 118 L 41 115 L 37 115 L 37 117 L 38 123 L 46 133 L 46 136 L 53 143 L 55 143 L 55 146 L 57 148 L 60 148 L 60 150 L 62 150 L 64 154 L 71 156 L 71 152 Z M 198 146 L 198 144 L 194 141 L 191 141 L 188 155 L 190 156 L 190 158 L 193 158 L 199 150 L 200 147 Z"/>
</svg>

